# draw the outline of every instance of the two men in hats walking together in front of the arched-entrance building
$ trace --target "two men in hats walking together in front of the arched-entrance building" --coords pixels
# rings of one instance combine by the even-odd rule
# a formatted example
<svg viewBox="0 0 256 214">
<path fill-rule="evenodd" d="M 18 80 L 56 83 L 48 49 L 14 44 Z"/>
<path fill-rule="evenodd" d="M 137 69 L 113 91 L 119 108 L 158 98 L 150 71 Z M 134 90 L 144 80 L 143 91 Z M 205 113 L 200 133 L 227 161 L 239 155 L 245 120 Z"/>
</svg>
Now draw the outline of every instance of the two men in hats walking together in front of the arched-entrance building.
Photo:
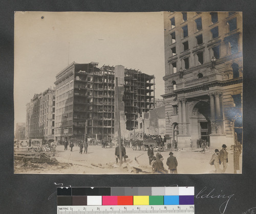
<svg viewBox="0 0 256 214">
<path fill-rule="evenodd" d="M 215 153 L 212 154 L 209 164 L 215 166 L 216 173 L 225 173 L 228 163 L 228 152 L 226 151 L 227 146 L 222 145 L 222 150 L 215 150 Z M 223 165 L 223 169 L 220 169 L 220 164 Z"/>
</svg>

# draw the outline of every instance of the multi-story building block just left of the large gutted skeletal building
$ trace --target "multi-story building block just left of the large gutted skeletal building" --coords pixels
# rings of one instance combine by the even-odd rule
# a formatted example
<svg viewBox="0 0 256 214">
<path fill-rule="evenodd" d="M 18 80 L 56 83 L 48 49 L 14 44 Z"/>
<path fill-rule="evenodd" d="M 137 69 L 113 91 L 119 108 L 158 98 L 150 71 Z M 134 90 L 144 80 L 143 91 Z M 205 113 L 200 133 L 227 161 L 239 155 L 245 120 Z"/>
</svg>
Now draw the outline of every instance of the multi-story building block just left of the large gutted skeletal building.
<svg viewBox="0 0 256 214">
<path fill-rule="evenodd" d="M 54 139 L 55 89 L 35 94 L 27 104 L 26 137 Z"/>
</svg>

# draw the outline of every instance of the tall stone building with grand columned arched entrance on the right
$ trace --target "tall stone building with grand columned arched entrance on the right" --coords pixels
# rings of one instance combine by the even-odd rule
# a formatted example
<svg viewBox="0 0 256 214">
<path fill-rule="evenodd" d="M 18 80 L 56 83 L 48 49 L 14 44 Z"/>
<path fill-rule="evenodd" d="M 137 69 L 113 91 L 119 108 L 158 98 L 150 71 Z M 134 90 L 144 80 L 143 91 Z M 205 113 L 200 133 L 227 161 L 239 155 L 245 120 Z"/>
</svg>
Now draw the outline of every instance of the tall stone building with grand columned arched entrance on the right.
<svg viewBox="0 0 256 214">
<path fill-rule="evenodd" d="M 164 13 L 166 134 L 242 143 L 242 13 Z"/>
</svg>

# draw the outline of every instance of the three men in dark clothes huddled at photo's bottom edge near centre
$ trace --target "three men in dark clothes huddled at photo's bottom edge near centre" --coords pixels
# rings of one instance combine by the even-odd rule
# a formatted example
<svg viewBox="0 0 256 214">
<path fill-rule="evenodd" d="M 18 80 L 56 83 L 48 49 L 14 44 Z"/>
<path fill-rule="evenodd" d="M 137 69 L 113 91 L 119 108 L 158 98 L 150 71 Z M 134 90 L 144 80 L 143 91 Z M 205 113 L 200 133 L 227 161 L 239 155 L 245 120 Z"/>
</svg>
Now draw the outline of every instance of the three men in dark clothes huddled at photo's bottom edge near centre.
<svg viewBox="0 0 256 214">
<path fill-rule="evenodd" d="M 176 157 L 173 156 L 173 154 L 174 154 L 173 152 L 169 153 L 169 157 L 167 158 L 166 165 L 168 166 L 168 170 L 170 170 L 171 174 L 177 174 L 178 161 Z M 160 152 L 157 152 L 156 156 L 154 156 L 154 150 L 152 145 L 150 145 L 150 147 L 147 150 L 147 156 L 150 161 L 150 165 L 152 161 L 155 160 L 152 165 L 153 173 L 161 173 L 161 174 L 168 173 L 168 171 L 165 170 L 163 166 L 163 156 L 161 155 Z"/>
</svg>

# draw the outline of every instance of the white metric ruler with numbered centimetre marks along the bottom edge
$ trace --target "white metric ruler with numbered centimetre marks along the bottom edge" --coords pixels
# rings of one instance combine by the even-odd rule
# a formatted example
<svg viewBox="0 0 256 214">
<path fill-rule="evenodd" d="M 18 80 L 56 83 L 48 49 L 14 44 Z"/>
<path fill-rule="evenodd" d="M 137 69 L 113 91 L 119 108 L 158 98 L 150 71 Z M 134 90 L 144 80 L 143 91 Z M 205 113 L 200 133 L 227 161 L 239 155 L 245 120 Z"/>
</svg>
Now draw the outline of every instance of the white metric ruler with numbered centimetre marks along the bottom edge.
<svg viewBox="0 0 256 214">
<path fill-rule="evenodd" d="M 57 214 L 195 214 L 195 205 L 57 206 Z"/>
</svg>

